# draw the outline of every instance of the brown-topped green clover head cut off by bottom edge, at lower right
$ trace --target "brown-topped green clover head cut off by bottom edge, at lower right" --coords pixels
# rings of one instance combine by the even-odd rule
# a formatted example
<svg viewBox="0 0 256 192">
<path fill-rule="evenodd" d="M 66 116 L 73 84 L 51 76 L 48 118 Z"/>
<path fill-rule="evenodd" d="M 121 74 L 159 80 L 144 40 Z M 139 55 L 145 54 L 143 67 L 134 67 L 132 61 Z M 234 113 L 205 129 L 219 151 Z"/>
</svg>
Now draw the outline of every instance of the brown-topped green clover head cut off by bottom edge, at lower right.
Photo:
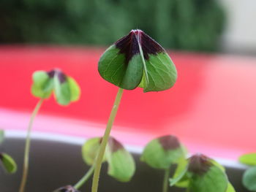
<svg viewBox="0 0 256 192">
<path fill-rule="evenodd" d="M 206 155 L 192 155 L 178 164 L 170 186 L 187 188 L 187 192 L 234 192 L 225 168 Z"/>
</svg>

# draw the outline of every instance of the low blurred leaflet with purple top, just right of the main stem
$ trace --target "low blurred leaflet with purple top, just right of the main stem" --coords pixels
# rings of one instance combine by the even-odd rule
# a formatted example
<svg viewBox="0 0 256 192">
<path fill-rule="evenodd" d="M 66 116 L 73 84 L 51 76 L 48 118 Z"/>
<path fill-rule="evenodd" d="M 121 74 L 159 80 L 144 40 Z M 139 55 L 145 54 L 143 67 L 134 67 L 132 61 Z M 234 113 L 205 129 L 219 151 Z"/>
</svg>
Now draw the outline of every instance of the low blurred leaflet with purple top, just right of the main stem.
<svg viewBox="0 0 256 192">
<path fill-rule="evenodd" d="M 128 182 L 135 174 L 135 161 L 120 142 L 110 137 L 106 150 L 108 174 L 121 182 Z"/>
</svg>

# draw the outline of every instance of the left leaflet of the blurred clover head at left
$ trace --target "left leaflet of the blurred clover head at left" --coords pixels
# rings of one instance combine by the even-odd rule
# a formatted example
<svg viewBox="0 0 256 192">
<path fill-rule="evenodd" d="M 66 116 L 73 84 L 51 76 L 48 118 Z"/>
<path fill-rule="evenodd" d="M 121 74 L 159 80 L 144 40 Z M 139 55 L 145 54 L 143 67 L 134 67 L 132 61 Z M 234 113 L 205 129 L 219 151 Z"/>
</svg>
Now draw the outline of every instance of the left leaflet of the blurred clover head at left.
<svg viewBox="0 0 256 192">
<path fill-rule="evenodd" d="M 31 87 L 31 93 L 36 97 L 48 99 L 53 91 L 53 80 L 49 77 L 47 72 L 34 72 L 32 79 L 33 85 Z"/>
</svg>

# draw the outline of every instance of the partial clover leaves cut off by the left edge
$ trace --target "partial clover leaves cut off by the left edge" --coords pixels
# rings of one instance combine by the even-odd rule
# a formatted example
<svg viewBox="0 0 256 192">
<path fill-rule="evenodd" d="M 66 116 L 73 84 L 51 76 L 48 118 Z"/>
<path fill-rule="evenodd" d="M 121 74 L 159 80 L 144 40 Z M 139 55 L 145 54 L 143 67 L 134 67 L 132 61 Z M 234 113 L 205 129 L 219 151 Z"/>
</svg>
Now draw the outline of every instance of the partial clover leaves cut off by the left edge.
<svg viewBox="0 0 256 192">
<path fill-rule="evenodd" d="M 4 130 L 0 130 L 0 145 L 2 142 L 4 142 Z M 7 173 L 15 173 L 17 171 L 17 164 L 7 153 L 0 153 L 0 161 Z"/>
</svg>

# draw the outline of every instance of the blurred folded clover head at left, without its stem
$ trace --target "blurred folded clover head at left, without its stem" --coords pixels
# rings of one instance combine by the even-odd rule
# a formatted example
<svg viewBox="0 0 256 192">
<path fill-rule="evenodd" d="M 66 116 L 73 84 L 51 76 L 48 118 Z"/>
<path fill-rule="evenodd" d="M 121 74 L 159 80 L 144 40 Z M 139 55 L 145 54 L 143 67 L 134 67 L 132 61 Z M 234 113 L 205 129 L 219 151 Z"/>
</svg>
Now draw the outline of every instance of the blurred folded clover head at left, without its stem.
<svg viewBox="0 0 256 192">
<path fill-rule="evenodd" d="M 80 97 L 78 83 L 59 69 L 34 72 L 31 92 L 41 99 L 48 99 L 54 93 L 56 101 L 61 105 L 77 101 Z"/>
</svg>

